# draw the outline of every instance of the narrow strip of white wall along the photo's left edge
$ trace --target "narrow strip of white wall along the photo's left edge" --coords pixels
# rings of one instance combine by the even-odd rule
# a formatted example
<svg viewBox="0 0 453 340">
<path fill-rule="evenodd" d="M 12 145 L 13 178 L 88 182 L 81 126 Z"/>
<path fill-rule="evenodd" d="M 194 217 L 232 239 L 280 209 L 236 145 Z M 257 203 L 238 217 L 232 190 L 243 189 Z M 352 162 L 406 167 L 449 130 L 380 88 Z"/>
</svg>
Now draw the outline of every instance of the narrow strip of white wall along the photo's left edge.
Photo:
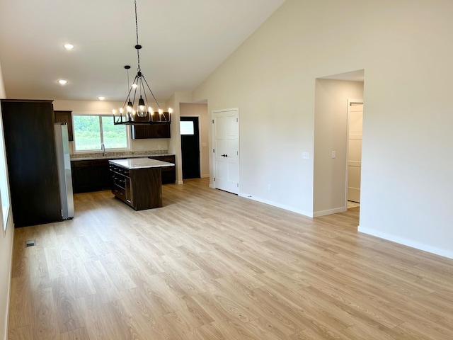
<svg viewBox="0 0 453 340">
<path fill-rule="evenodd" d="M 0 65 L 0 98 L 6 98 L 3 77 Z M 1 118 L 0 107 L 0 124 L 3 124 Z M 4 145 L 4 140 L 1 139 L 0 143 Z M 1 193 L 2 195 L 6 193 Z M 0 216 L 1 206 L 0 206 Z M 2 217 L 0 217 L 2 218 Z M 0 224 L 0 339 L 7 339 L 8 331 L 8 305 L 9 305 L 9 290 L 11 287 L 11 263 L 13 251 L 13 217 L 11 210 L 8 216 L 8 224 L 6 225 L 6 232 L 3 231 L 3 226 Z"/>
</svg>

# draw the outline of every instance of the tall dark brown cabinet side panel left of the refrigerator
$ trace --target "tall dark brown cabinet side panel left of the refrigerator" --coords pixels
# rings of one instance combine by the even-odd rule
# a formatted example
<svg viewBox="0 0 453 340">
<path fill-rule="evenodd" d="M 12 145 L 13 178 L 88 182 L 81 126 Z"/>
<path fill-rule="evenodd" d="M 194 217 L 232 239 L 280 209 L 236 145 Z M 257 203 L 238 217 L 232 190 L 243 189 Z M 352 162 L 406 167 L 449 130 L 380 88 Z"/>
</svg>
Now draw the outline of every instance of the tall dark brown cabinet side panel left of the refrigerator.
<svg viewBox="0 0 453 340">
<path fill-rule="evenodd" d="M 62 220 L 52 101 L 2 99 L 15 227 Z"/>
</svg>

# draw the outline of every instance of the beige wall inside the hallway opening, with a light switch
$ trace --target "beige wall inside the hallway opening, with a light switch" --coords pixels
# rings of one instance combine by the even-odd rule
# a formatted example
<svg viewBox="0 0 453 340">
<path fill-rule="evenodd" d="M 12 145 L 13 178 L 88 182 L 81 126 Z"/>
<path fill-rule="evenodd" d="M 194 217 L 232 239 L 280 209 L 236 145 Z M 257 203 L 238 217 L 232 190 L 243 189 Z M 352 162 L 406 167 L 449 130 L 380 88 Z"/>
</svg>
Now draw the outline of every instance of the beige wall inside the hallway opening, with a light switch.
<svg viewBox="0 0 453 340">
<path fill-rule="evenodd" d="M 345 210 L 348 99 L 363 99 L 363 82 L 316 79 L 315 91 L 313 215 L 322 216 Z"/>
</svg>

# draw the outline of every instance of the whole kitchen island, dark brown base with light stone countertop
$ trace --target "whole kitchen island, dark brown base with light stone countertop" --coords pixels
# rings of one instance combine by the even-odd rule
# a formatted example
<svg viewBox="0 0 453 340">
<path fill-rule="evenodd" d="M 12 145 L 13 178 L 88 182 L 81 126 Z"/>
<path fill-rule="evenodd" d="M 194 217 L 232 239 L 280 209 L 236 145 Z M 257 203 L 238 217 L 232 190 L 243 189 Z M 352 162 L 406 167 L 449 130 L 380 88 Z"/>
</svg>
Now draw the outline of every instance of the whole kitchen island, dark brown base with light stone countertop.
<svg viewBox="0 0 453 340">
<path fill-rule="evenodd" d="M 110 160 L 112 193 L 134 210 L 159 208 L 162 206 L 161 169 L 174 165 L 149 158 Z"/>
</svg>

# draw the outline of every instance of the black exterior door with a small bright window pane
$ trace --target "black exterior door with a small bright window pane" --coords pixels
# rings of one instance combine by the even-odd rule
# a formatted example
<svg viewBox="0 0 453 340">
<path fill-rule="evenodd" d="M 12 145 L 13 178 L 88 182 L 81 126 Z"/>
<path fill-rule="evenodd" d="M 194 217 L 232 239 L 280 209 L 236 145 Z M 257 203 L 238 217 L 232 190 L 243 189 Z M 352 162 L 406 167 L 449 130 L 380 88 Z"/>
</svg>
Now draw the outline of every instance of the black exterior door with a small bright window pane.
<svg viewBox="0 0 453 340">
<path fill-rule="evenodd" d="M 180 118 L 183 179 L 200 178 L 200 134 L 198 117 Z"/>
</svg>

